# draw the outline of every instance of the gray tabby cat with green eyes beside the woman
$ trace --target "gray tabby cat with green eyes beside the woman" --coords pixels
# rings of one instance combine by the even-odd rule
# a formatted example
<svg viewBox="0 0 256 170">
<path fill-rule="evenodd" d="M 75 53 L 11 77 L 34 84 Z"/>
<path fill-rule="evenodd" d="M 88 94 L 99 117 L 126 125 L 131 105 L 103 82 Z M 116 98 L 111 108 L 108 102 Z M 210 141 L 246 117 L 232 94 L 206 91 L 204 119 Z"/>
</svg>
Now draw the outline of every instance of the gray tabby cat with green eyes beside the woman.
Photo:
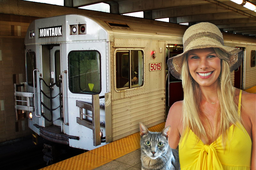
<svg viewBox="0 0 256 170">
<path fill-rule="evenodd" d="M 179 152 L 168 144 L 170 129 L 150 132 L 140 123 L 141 170 L 180 170 Z"/>
</svg>

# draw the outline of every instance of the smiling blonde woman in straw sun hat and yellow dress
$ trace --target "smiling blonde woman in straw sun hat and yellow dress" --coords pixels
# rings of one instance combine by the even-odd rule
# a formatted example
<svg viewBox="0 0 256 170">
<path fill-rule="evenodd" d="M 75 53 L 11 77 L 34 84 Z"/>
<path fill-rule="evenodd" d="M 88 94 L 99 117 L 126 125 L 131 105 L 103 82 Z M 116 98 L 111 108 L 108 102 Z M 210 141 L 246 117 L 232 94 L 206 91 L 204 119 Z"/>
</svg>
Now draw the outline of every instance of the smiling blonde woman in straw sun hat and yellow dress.
<svg viewBox="0 0 256 170">
<path fill-rule="evenodd" d="M 255 170 L 256 94 L 231 85 L 230 72 L 243 51 L 225 47 L 211 23 L 190 26 L 184 52 L 168 60 L 172 75 L 182 79 L 184 100 L 172 105 L 165 126 L 169 145 L 179 145 L 183 170 Z"/>
</svg>

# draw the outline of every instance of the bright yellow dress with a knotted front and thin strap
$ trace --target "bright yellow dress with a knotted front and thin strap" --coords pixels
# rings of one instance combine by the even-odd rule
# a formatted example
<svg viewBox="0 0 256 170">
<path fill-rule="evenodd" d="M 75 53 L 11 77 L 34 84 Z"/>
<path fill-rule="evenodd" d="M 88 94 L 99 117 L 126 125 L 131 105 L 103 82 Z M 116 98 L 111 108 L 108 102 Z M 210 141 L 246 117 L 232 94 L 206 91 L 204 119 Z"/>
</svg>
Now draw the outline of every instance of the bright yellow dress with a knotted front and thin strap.
<svg viewBox="0 0 256 170">
<path fill-rule="evenodd" d="M 239 95 L 238 115 L 240 115 L 241 95 Z M 252 140 L 244 126 L 234 124 L 229 127 L 226 151 L 220 136 L 212 144 L 204 144 L 191 130 L 186 130 L 188 138 L 179 143 L 181 170 L 250 170 Z M 185 134 L 186 136 L 187 134 Z"/>
</svg>

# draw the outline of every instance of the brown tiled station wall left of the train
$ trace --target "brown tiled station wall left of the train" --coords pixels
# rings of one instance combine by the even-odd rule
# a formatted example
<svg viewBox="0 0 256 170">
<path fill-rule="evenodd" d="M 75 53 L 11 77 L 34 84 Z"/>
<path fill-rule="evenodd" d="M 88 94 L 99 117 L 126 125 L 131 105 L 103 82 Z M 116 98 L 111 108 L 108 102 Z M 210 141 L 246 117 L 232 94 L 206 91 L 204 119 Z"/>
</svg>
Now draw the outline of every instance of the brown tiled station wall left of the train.
<svg viewBox="0 0 256 170">
<path fill-rule="evenodd" d="M 0 13 L 0 143 L 31 134 L 26 118 L 16 121 L 13 84 L 26 80 L 24 38 L 35 19 Z"/>
</svg>

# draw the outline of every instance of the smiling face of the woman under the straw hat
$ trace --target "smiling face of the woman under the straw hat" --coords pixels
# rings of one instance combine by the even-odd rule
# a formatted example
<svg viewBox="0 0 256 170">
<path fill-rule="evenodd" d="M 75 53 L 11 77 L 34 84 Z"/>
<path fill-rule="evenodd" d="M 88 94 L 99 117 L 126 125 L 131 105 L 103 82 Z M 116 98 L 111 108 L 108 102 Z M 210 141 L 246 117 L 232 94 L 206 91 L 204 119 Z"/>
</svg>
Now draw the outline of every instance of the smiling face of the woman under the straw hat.
<svg viewBox="0 0 256 170">
<path fill-rule="evenodd" d="M 221 71 L 220 58 L 213 48 L 193 49 L 188 52 L 188 68 L 200 86 L 218 84 Z"/>
</svg>

